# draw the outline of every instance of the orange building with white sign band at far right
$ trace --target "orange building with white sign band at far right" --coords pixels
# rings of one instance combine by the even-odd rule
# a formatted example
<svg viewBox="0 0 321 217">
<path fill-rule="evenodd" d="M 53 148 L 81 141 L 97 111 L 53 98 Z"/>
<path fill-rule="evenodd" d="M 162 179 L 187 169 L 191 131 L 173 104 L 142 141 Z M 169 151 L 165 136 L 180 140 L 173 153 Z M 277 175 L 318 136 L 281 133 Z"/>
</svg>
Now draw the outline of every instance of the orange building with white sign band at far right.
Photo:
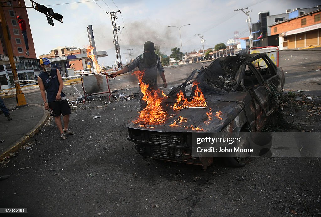
<svg viewBox="0 0 321 217">
<path fill-rule="evenodd" d="M 321 45 L 321 9 L 271 25 L 280 50 Z"/>
</svg>

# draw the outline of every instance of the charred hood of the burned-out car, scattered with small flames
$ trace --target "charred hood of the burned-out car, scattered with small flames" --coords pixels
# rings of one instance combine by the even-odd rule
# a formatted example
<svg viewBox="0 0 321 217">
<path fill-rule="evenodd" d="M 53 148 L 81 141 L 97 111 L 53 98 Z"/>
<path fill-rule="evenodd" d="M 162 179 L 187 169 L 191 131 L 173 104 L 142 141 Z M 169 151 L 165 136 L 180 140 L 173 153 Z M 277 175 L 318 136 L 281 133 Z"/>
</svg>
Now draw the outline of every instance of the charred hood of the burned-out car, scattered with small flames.
<svg viewBox="0 0 321 217">
<path fill-rule="evenodd" d="M 219 132 L 227 126 L 251 100 L 247 92 L 233 92 L 221 95 L 208 96 L 206 98 L 206 108 L 184 108 L 179 111 L 170 109 L 174 104 L 171 99 L 166 102 L 166 112 L 168 118 L 165 123 L 158 125 L 135 124 L 133 121 L 127 124 L 128 128 L 144 129 L 158 132 Z M 212 120 L 206 113 L 212 112 Z M 215 116 L 216 112 L 221 111 L 219 117 Z M 186 118 L 186 122 L 179 123 L 178 118 Z M 137 119 L 137 117 L 136 117 Z M 135 119 L 135 120 L 136 120 Z M 176 121 L 178 126 L 170 126 Z M 206 124 L 206 122 L 208 124 Z"/>
</svg>

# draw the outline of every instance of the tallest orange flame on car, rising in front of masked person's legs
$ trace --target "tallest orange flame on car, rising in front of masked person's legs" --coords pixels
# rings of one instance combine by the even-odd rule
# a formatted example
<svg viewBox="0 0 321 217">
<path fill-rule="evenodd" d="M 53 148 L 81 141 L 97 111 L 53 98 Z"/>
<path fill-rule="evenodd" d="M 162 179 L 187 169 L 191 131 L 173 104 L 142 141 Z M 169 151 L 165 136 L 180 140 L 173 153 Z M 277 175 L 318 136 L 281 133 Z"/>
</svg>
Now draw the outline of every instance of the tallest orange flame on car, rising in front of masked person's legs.
<svg viewBox="0 0 321 217">
<path fill-rule="evenodd" d="M 162 100 L 166 97 L 164 92 L 162 91 L 160 97 L 160 90 L 157 91 L 149 91 L 148 84 L 144 84 L 142 82 L 142 77 L 144 72 L 142 71 L 134 71 L 139 80 L 140 88 L 143 93 L 143 100 L 147 103 L 146 108 L 143 111 L 139 112 L 139 116 L 136 121 L 133 123 L 137 124 L 146 124 L 146 125 L 156 125 L 163 124 L 166 121 L 168 114 L 163 111 L 162 106 L 160 105 Z"/>
</svg>

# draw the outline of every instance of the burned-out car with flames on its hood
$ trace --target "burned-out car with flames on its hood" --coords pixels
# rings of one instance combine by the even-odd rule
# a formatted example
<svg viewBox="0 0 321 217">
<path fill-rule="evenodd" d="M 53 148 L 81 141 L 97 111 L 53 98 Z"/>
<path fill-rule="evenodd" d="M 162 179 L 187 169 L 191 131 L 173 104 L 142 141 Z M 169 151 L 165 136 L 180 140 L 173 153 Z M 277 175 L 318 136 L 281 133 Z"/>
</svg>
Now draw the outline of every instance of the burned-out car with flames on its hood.
<svg viewBox="0 0 321 217">
<path fill-rule="evenodd" d="M 127 124 L 127 139 L 145 159 L 197 164 L 206 169 L 213 157 L 191 154 L 192 133 L 261 132 L 278 108 L 280 102 L 274 93 L 283 85 L 282 68 L 265 53 L 215 59 L 208 67 L 194 70 L 167 96 L 141 87 L 147 107 Z M 248 159 L 236 156 L 227 162 L 244 166 Z"/>
</svg>

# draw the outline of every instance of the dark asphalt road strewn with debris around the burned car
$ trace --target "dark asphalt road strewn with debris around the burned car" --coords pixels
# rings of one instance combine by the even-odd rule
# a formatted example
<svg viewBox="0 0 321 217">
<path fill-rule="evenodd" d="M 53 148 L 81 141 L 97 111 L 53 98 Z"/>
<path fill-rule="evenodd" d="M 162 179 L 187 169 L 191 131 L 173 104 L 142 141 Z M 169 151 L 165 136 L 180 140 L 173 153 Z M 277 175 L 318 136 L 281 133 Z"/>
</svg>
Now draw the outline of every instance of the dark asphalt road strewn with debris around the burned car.
<svg viewBox="0 0 321 217">
<path fill-rule="evenodd" d="M 320 96 L 320 85 L 304 84 L 320 81 L 319 71 L 315 72 L 320 53 L 304 52 L 281 52 L 285 88 L 306 87 Z M 299 65 L 299 60 L 308 60 L 304 58 L 311 61 Z M 167 68 L 165 92 L 199 66 Z M 111 89 L 124 89 L 115 94 L 134 94 L 136 86 L 126 76 L 110 82 Z M 81 90 L 81 85 L 75 87 Z M 64 92 L 70 99 L 77 97 L 73 86 Z M 39 90 L 25 95 L 27 102 L 42 103 Z M 50 118 L 26 145 L 31 149 L 22 148 L 2 165 L 0 174 L 10 177 L 0 183 L 1 207 L 27 208 L 25 216 L 321 215 L 320 158 L 252 158 L 243 168 L 226 167 L 216 159 L 207 171 L 200 166 L 146 162 L 126 140 L 126 124 L 137 115 L 138 97 L 107 101 L 101 96 L 74 105 L 78 107 L 72 107 L 69 126 L 75 135 L 65 140 L 59 139 Z M 5 103 L 14 106 L 13 99 Z M 25 167 L 30 168 L 21 169 Z"/>
</svg>

